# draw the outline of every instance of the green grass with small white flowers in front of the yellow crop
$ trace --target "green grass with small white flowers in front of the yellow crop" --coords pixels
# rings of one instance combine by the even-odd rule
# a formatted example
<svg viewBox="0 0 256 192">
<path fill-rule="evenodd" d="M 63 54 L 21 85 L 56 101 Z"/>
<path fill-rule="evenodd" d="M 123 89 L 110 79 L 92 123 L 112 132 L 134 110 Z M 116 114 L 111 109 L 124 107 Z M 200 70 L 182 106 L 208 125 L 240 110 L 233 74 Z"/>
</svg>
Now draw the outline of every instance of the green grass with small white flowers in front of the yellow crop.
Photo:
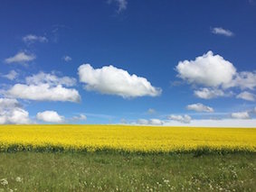
<svg viewBox="0 0 256 192">
<path fill-rule="evenodd" d="M 250 152 L 0 152 L 0 191 L 253 191 L 255 178 Z"/>
</svg>

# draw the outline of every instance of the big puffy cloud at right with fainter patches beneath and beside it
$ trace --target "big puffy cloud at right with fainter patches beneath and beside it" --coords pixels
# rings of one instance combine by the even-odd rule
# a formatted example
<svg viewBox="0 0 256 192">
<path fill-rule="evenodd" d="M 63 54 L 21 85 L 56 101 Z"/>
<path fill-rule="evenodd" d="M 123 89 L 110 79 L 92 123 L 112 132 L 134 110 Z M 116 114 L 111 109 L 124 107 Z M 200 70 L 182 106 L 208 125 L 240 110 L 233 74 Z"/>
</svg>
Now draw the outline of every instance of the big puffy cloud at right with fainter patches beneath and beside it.
<svg viewBox="0 0 256 192">
<path fill-rule="evenodd" d="M 197 87 L 201 86 L 194 90 L 194 96 L 204 99 L 232 96 L 232 91 L 227 91 L 232 87 L 242 90 L 254 90 L 256 87 L 256 71 L 237 72 L 230 61 L 220 55 L 213 55 L 211 50 L 194 60 L 180 61 L 175 70 L 178 78 Z M 238 98 L 244 96 L 243 93 Z M 246 94 L 247 98 L 248 96 Z"/>
</svg>

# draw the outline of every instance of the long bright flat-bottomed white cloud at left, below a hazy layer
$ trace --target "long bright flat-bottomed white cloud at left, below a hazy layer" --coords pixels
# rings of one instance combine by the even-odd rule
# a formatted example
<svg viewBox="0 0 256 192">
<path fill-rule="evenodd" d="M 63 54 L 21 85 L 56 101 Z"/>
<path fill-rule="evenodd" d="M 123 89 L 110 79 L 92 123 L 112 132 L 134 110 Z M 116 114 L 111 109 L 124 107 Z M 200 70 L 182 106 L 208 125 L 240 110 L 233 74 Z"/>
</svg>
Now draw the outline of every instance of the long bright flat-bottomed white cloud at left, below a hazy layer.
<svg viewBox="0 0 256 192">
<path fill-rule="evenodd" d="M 48 84 L 24 85 L 15 84 L 5 93 L 15 98 L 30 99 L 36 101 L 70 101 L 80 102 L 81 96 L 76 89 L 65 88 L 62 85 L 51 87 Z"/>
</svg>

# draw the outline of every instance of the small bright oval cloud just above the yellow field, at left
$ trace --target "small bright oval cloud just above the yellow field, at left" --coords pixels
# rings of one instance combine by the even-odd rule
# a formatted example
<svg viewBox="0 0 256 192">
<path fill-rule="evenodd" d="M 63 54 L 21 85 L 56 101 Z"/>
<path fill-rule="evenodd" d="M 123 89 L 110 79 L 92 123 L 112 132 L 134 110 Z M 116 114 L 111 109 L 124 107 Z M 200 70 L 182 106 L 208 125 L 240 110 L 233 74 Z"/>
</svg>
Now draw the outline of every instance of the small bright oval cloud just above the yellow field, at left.
<svg viewBox="0 0 256 192">
<path fill-rule="evenodd" d="M 64 117 L 55 111 L 44 111 L 36 114 L 36 118 L 47 123 L 63 123 Z"/>
</svg>

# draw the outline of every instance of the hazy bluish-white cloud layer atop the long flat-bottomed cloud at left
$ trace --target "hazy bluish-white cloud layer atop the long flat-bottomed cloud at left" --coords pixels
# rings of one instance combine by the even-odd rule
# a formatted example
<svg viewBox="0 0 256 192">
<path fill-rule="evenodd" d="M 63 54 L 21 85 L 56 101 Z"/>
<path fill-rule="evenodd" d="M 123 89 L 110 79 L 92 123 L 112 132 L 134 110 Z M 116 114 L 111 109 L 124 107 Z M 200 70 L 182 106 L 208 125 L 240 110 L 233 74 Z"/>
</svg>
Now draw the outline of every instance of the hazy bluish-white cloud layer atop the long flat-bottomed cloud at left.
<svg viewBox="0 0 256 192">
<path fill-rule="evenodd" d="M 55 76 L 54 74 L 43 73 L 43 72 L 40 72 L 31 77 L 27 77 L 27 78 L 25 78 L 25 81 L 28 85 L 48 84 L 50 86 L 64 85 L 67 87 L 73 87 L 76 85 L 75 78 L 69 78 L 66 76 L 59 78 L 59 77 Z"/>
</svg>

